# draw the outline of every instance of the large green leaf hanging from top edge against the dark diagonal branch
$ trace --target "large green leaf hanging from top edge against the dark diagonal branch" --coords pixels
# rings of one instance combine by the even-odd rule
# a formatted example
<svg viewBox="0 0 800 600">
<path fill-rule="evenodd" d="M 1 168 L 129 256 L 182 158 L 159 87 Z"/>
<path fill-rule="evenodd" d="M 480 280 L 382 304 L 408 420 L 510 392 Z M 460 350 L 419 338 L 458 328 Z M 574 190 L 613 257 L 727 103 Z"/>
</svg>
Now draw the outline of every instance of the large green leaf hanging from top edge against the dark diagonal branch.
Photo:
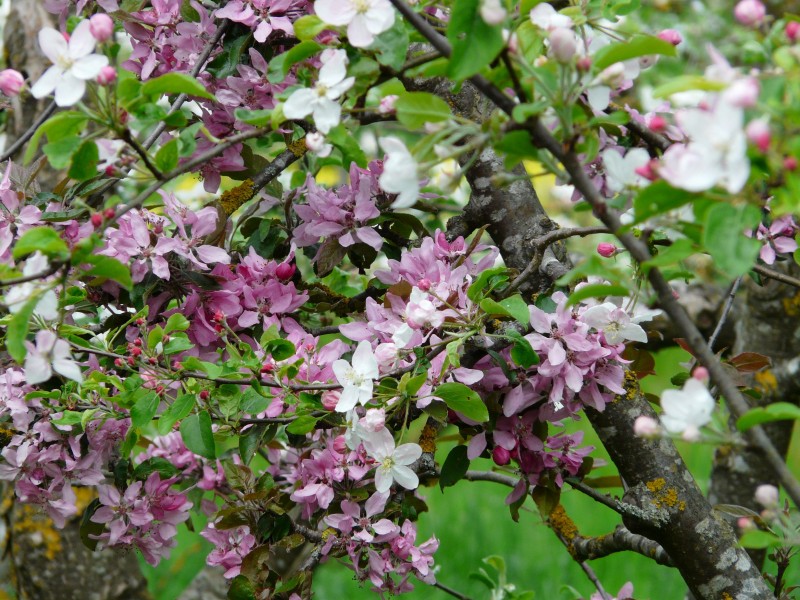
<svg viewBox="0 0 800 600">
<path fill-rule="evenodd" d="M 503 49 L 502 28 L 488 25 L 480 15 L 480 0 L 455 0 L 447 25 L 453 48 L 447 74 L 456 81 L 472 77 Z"/>
</svg>

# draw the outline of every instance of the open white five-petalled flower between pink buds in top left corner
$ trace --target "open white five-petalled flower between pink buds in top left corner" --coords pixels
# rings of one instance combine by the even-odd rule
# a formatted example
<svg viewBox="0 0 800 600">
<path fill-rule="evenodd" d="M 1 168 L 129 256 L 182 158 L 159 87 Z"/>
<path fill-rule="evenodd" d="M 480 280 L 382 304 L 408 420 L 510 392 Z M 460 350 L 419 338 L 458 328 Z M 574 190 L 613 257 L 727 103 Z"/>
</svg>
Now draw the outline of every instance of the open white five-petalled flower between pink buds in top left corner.
<svg viewBox="0 0 800 600">
<path fill-rule="evenodd" d="M 55 90 L 58 106 L 72 106 L 83 97 L 86 81 L 97 77 L 108 64 L 105 56 L 92 54 L 97 40 L 89 27 L 88 20 L 81 21 L 69 42 L 51 27 L 39 32 L 39 45 L 53 66 L 31 88 L 34 98 L 44 98 Z"/>
</svg>

